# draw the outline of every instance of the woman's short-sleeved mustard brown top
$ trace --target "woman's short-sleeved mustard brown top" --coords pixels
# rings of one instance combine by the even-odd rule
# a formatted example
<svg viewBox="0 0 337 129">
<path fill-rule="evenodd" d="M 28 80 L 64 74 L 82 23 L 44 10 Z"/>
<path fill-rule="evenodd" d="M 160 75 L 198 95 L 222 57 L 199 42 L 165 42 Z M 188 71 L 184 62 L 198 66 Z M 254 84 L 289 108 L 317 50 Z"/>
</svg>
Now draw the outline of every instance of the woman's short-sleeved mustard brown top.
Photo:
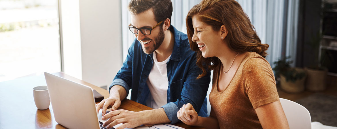
<svg viewBox="0 0 337 129">
<path fill-rule="evenodd" d="M 279 100 L 268 61 L 255 52 L 248 53 L 223 91 L 218 91 L 220 69 L 221 65 L 214 69 L 210 93 L 220 128 L 262 128 L 254 109 Z"/>
</svg>

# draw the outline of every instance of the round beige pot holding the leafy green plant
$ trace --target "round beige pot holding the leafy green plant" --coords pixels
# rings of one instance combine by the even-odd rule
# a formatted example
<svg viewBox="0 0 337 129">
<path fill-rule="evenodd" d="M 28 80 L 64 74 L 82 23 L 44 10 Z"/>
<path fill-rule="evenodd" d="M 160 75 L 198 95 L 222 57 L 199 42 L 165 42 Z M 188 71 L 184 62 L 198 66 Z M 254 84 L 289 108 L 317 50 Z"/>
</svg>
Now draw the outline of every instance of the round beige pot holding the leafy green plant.
<svg viewBox="0 0 337 129">
<path fill-rule="evenodd" d="M 303 69 L 296 68 L 296 71 L 304 71 Z M 304 91 L 305 88 L 305 79 L 306 77 L 304 76 L 302 79 L 296 80 L 295 82 L 293 81 L 287 81 L 284 75 L 280 75 L 280 84 L 281 84 L 281 89 L 285 92 L 288 93 L 300 93 Z"/>
</svg>

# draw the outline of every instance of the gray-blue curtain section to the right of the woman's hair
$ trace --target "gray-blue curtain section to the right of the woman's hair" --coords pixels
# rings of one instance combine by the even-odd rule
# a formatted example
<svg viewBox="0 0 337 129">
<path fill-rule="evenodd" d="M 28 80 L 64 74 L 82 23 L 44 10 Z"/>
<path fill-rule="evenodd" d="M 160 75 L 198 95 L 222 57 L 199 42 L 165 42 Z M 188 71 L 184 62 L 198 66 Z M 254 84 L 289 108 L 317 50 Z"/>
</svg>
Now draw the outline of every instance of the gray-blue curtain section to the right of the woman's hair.
<svg viewBox="0 0 337 129">
<path fill-rule="evenodd" d="M 299 0 L 237 0 L 249 16 L 262 43 L 269 44 L 267 60 L 291 56 L 296 60 Z M 295 63 L 291 64 L 295 66 Z"/>
</svg>

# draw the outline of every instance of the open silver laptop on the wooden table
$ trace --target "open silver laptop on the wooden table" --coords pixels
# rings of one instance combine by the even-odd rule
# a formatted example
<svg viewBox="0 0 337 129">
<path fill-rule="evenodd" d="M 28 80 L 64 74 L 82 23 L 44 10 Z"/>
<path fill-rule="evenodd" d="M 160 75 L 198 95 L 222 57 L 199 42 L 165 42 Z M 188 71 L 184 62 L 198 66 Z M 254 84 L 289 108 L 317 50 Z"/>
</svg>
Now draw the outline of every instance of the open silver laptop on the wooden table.
<svg viewBox="0 0 337 129">
<path fill-rule="evenodd" d="M 57 123 L 69 129 L 104 129 L 101 124 L 105 121 L 100 119 L 101 113 L 96 114 L 91 87 L 47 72 L 44 72 L 44 77 Z"/>
</svg>

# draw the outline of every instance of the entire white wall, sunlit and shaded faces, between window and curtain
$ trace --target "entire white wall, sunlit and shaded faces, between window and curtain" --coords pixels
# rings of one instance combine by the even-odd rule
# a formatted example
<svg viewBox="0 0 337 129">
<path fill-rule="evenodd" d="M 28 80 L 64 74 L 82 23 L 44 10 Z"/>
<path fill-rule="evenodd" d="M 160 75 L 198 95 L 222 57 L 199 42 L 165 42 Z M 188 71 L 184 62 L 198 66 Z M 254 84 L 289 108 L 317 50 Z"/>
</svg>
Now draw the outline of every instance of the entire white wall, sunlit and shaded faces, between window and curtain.
<svg viewBox="0 0 337 129">
<path fill-rule="evenodd" d="M 61 0 L 64 72 L 109 87 L 122 66 L 119 0 Z"/>
</svg>

